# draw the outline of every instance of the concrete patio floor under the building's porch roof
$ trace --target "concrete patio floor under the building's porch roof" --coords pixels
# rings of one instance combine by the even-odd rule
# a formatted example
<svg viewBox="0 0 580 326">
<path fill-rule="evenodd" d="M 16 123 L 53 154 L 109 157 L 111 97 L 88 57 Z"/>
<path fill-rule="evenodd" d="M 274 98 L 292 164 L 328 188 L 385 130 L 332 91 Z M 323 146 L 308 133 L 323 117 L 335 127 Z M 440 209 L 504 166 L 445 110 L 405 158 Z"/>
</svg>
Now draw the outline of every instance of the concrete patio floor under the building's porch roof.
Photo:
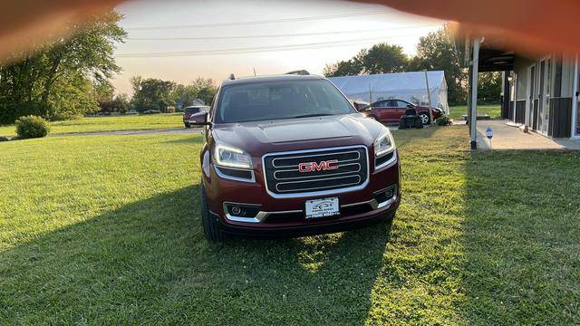
<svg viewBox="0 0 580 326">
<path fill-rule="evenodd" d="M 478 149 L 522 149 L 522 150 L 580 150 L 580 141 L 571 139 L 549 139 L 534 131 L 524 132 L 517 126 L 508 125 L 507 120 L 478 121 Z M 491 146 L 486 129 L 493 130 Z"/>
</svg>

